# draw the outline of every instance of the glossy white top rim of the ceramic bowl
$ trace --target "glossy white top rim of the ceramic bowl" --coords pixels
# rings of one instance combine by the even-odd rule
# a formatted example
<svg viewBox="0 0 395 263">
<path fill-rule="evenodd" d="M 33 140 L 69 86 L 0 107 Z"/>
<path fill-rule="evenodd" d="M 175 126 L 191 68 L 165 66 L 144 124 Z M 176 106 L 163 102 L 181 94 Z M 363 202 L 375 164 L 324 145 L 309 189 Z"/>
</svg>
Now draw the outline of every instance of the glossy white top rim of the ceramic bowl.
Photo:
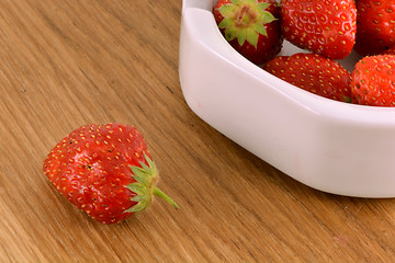
<svg viewBox="0 0 395 263">
<path fill-rule="evenodd" d="M 184 14 L 187 10 L 193 10 L 192 12 L 210 12 L 212 14 L 211 10 L 214 7 L 214 2 L 215 1 L 213 0 L 183 0 L 182 13 Z M 216 34 L 217 39 L 219 39 L 217 45 L 228 52 L 230 45 L 222 36 L 215 23 L 214 16 L 212 16 L 211 23 L 211 30 L 215 31 L 213 34 Z M 287 43 L 286 41 L 284 42 Z M 261 82 L 268 83 L 268 85 L 273 87 L 279 92 L 283 93 L 283 95 L 286 95 L 292 100 L 296 100 L 297 103 L 308 107 L 309 111 L 313 111 L 318 115 L 337 121 L 352 122 L 354 124 L 395 126 L 395 107 L 359 105 L 323 98 L 270 75 L 259 66 L 248 61 L 233 48 L 232 49 L 235 54 L 233 54 L 233 56 L 228 56 L 228 53 L 222 52 L 222 48 L 215 48 L 214 50 L 210 45 L 206 45 L 206 43 L 202 44 L 205 48 L 211 49 L 211 53 L 233 64 L 234 67 L 239 68 L 239 70 L 244 73 L 251 78 L 257 78 Z M 302 49 L 300 50 L 306 52 Z"/>
</svg>

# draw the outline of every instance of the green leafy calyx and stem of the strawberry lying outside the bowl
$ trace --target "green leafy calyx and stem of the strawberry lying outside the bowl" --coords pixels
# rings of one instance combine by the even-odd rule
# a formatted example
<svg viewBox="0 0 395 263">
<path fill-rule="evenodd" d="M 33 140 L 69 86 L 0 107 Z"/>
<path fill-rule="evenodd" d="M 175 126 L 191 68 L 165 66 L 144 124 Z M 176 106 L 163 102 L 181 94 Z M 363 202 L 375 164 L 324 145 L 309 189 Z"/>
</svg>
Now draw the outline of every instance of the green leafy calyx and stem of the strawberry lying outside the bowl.
<svg viewBox="0 0 395 263">
<path fill-rule="evenodd" d="M 156 186 L 158 169 L 155 162 L 146 153 L 144 153 L 144 157 L 148 165 L 140 162 L 142 167 L 131 167 L 136 182 L 126 185 L 126 187 L 136 194 L 132 197 L 132 201 L 137 202 L 137 204 L 126 209 L 125 213 L 137 213 L 146 209 L 151 204 L 154 195 L 165 199 L 178 209 L 179 206 L 176 202 Z"/>
</svg>

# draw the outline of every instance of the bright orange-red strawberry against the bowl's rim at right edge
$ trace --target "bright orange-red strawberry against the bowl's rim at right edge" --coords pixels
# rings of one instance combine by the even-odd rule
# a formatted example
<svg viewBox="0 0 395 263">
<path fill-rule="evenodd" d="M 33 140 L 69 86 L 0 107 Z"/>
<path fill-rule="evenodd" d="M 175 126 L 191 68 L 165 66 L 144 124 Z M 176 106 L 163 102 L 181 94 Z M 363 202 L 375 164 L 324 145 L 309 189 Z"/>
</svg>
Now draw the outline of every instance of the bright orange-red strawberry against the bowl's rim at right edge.
<svg viewBox="0 0 395 263">
<path fill-rule="evenodd" d="M 356 64 L 351 81 L 352 102 L 395 106 L 395 56 L 364 57 Z"/>
</svg>

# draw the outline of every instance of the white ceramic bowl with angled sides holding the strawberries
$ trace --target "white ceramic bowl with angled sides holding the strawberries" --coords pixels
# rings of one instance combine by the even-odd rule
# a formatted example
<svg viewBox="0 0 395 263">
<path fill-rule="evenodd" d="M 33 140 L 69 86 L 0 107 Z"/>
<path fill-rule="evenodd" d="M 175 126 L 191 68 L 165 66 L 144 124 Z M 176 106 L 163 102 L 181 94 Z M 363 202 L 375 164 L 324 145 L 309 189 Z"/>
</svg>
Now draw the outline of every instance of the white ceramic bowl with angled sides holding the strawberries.
<svg viewBox="0 0 395 263">
<path fill-rule="evenodd" d="M 241 57 L 213 0 L 183 0 L 179 76 L 191 110 L 295 180 L 328 193 L 395 197 L 395 108 L 303 91 Z M 284 43 L 281 55 L 301 49 Z M 350 71 L 358 56 L 341 60 Z"/>
</svg>

